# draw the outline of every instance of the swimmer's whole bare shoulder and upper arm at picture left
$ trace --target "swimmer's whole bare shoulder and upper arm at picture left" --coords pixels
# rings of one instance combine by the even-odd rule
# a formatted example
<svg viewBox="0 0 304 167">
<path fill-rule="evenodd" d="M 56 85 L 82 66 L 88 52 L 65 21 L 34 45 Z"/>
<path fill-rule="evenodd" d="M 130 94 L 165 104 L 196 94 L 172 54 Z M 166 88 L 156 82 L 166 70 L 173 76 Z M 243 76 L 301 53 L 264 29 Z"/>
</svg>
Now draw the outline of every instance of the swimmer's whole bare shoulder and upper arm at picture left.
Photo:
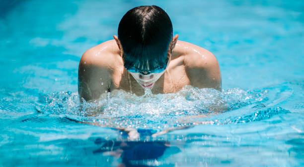
<svg viewBox="0 0 304 167">
<path fill-rule="evenodd" d="M 84 52 L 78 66 L 80 99 L 84 98 L 86 101 L 99 99 L 110 90 L 113 76 L 123 67 L 119 64 L 122 60 L 117 61 L 119 57 L 121 56 L 114 40 L 103 42 Z"/>
</svg>

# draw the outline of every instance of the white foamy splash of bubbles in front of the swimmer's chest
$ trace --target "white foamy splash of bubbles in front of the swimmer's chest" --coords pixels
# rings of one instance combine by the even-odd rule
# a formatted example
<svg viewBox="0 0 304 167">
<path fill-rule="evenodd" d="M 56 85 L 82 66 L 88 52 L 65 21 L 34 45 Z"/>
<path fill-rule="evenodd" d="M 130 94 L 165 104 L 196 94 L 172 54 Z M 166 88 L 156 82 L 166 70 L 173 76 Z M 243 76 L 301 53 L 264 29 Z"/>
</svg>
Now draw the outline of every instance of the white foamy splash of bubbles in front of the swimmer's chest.
<svg viewBox="0 0 304 167">
<path fill-rule="evenodd" d="M 179 92 L 169 94 L 152 94 L 151 89 L 145 89 L 143 96 L 123 90 L 104 93 L 104 99 L 94 102 L 82 99 L 81 104 L 77 92 L 53 93 L 47 97 L 47 105 L 39 111 L 68 116 L 88 124 L 94 122 L 100 126 L 156 131 L 201 124 L 241 124 L 286 112 L 260 105 L 267 100 L 265 90 L 234 88 L 221 92 L 185 86 Z M 226 113 L 234 114 L 225 116 Z"/>
</svg>

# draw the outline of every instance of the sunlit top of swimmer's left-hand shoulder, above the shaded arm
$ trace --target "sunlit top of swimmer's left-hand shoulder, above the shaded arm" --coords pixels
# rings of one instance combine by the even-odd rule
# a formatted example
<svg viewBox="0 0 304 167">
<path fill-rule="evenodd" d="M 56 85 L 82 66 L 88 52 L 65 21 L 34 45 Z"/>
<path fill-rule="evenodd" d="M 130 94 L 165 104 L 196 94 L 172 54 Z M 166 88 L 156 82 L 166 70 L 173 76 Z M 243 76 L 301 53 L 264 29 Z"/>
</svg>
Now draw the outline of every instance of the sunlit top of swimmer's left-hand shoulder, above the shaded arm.
<svg viewBox="0 0 304 167">
<path fill-rule="evenodd" d="M 111 68 L 115 66 L 117 59 L 120 59 L 119 48 L 115 40 L 100 43 L 86 50 L 80 59 L 80 64 L 96 67 Z"/>
</svg>

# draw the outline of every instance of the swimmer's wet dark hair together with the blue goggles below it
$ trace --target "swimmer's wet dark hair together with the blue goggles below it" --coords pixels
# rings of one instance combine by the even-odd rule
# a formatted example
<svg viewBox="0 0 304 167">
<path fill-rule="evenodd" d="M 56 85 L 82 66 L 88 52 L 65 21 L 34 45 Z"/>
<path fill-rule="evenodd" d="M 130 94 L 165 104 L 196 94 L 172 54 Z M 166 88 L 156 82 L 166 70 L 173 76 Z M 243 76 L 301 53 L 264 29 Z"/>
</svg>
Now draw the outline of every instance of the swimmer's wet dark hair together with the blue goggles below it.
<svg viewBox="0 0 304 167">
<path fill-rule="evenodd" d="M 118 26 L 125 68 L 150 72 L 165 68 L 173 37 L 172 23 L 158 6 L 138 6 L 129 10 Z"/>
</svg>

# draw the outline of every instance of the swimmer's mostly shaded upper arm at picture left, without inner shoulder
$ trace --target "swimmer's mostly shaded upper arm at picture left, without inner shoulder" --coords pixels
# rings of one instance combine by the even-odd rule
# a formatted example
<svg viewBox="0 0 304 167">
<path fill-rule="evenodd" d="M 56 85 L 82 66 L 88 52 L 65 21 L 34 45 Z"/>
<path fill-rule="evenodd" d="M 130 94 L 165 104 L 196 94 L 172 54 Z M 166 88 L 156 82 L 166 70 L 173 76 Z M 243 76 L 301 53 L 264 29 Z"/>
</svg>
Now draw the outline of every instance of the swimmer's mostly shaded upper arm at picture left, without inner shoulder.
<svg viewBox="0 0 304 167">
<path fill-rule="evenodd" d="M 89 49 L 81 57 L 78 67 L 78 94 L 80 102 L 105 98 L 111 85 L 110 71 L 102 60 Z"/>
</svg>

